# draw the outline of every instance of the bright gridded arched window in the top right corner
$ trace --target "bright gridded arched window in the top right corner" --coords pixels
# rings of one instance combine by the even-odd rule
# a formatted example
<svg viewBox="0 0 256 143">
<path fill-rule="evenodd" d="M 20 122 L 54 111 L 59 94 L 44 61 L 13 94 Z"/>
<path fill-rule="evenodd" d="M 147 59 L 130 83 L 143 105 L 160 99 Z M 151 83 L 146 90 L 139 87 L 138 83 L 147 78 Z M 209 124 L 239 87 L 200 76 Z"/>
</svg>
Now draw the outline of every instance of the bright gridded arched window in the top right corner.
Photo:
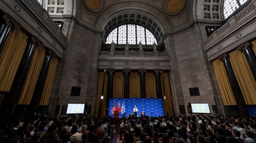
<svg viewBox="0 0 256 143">
<path fill-rule="evenodd" d="M 248 0 L 225 0 L 223 5 L 224 19 L 228 18 L 231 14 L 233 14 L 233 12 L 235 12 L 247 1 Z"/>
</svg>

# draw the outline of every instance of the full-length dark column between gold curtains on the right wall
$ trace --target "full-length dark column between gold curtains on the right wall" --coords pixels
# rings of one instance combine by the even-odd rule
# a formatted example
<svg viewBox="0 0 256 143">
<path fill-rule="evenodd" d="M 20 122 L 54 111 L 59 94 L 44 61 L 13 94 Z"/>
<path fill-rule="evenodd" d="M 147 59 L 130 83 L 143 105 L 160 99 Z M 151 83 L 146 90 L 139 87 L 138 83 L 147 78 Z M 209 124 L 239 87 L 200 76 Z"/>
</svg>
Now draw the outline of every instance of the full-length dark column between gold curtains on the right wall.
<svg viewBox="0 0 256 143">
<path fill-rule="evenodd" d="M 240 110 L 240 115 L 243 117 L 249 117 L 249 114 L 247 112 L 246 108 L 246 101 L 244 101 L 241 89 L 239 87 L 239 84 L 237 82 L 235 73 L 233 72 L 231 62 L 229 60 L 229 57 L 227 54 L 221 55 L 219 59 L 223 62 L 226 73 L 228 75 L 228 80 L 233 92 L 233 95 L 235 97 L 235 100 L 237 102 L 238 109 Z"/>
</svg>

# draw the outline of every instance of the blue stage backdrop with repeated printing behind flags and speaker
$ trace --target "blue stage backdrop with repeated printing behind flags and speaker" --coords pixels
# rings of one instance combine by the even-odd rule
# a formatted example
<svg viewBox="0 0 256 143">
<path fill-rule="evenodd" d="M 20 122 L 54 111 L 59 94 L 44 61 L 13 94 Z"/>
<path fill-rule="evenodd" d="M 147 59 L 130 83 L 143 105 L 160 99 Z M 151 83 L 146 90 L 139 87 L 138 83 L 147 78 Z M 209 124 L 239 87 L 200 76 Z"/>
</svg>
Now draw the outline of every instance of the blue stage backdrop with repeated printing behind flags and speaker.
<svg viewBox="0 0 256 143">
<path fill-rule="evenodd" d="M 108 105 L 108 115 L 114 117 L 114 114 L 111 114 L 111 109 L 113 104 L 115 103 L 115 107 L 117 107 L 117 103 L 119 101 L 120 108 L 123 106 L 123 101 L 125 105 L 126 116 L 129 114 L 133 114 L 132 110 L 134 106 L 138 108 L 138 116 L 142 110 L 145 111 L 148 116 L 163 116 L 163 99 L 162 98 L 110 98 Z M 121 114 L 119 112 L 119 117 L 124 116 L 125 114 Z"/>
</svg>

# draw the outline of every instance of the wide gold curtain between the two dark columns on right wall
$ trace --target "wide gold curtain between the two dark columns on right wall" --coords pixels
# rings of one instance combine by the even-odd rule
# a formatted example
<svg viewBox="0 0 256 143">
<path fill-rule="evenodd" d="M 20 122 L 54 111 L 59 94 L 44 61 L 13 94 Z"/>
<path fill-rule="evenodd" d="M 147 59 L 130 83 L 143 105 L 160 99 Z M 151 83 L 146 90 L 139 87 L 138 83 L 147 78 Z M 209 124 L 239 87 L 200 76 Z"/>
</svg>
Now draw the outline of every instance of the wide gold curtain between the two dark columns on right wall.
<svg viewBox="0 0 256 143">
<path fill-rule="evenodd" d="M 230 62 L 235 72 L 237 82 L 241 88 L 247 105 L 256 104 L 256 83 L 251 73 L 246 57 L 241 51 L 235 50 L 229 53 Z"/>
</svg>

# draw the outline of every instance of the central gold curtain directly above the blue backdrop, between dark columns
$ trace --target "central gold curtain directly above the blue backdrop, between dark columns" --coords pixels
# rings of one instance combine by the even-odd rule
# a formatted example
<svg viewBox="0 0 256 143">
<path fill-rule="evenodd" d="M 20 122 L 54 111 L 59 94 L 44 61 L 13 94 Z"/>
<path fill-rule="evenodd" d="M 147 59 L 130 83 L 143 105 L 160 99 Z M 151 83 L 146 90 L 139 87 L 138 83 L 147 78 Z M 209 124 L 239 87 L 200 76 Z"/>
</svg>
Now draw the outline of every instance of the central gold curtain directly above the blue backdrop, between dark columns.
<svg viewBox="0 0 256 143">
<path fill-rule="evenodd" d="M 133 98 L 136 95 L 137 98 L 140 98 L 140 74 L 138 71 L 131 71 L 129 77 L 130 84 L 130 98 Z"/>
</svg>

